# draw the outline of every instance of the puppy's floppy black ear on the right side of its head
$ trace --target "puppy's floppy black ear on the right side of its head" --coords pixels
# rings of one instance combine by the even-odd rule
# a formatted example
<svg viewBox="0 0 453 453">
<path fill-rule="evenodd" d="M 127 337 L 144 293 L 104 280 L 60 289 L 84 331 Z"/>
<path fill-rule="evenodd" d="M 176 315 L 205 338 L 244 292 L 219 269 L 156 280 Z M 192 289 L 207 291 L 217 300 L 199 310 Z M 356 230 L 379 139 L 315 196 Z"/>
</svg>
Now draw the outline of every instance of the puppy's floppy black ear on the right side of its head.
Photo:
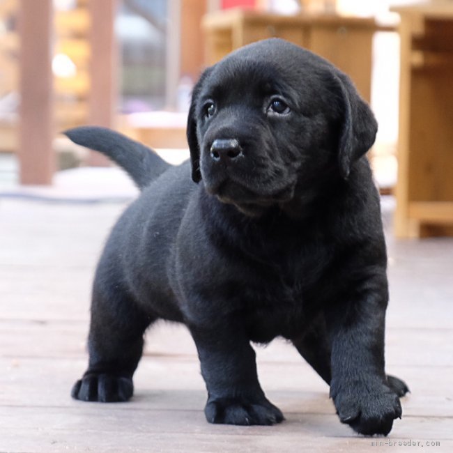
<svg viewBox="0 0 453 453">
<path fill-rule="evenodd" d="M 338 163 L 341 176 L 348 178 L 353 162 L 374 144 L 378 123 L 373 112 L 343 73 L 337 73 L 341 91 L 343 120 L 339 135 Z"/>
</svg>

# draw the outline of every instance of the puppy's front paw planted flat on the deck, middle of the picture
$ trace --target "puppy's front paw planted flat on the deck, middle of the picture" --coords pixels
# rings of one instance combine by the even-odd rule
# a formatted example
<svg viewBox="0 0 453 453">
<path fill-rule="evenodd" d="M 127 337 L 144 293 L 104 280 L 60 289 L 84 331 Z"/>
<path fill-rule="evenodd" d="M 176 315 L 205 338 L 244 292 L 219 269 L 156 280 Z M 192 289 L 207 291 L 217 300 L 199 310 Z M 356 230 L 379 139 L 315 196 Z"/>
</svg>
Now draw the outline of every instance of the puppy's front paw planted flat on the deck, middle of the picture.
<svg viewBox="0 0 453 453">
<path fill-rule="evenodd" d="M 210 423 L 275 424 L 282 422 L 282 412 L 267 399 L 259 402 L 242 398 L 220 398 L 208 401 L 204 410 Z"/>
</svg>

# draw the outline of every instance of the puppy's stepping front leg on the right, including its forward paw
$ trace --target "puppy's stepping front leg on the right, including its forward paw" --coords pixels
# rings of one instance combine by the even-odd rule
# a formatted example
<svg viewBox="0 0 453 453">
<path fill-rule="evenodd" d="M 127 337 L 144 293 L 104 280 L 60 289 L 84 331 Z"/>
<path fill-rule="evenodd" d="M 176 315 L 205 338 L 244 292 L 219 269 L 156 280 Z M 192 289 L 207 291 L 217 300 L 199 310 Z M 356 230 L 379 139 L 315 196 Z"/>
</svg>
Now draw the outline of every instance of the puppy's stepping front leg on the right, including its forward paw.
<svg viewBox="0 0 453 453">
<path fill-rule="evenodd" d="M 399 397 L 384 371 L 384 325 L 387 281 L 376 277 L 348 294 L 332 309 L 332 397 L 341 422 L 358 433 L 387 435 L 401 417 Z"/>
</svg>

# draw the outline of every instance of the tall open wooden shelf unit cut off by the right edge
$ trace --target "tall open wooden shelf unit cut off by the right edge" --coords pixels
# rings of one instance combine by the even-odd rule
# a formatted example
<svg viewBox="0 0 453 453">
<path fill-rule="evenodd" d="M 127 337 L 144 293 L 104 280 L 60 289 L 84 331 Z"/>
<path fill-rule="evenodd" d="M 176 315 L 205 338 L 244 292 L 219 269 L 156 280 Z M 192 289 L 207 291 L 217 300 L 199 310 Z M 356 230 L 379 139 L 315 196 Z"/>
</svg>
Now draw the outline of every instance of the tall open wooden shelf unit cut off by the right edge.
<svg viewBox="0 0 453 453">
<path fill-rule="evenodd" d="M 395 233 L 453 236 L 453 3 L 401 15 Z"/>
</svg>

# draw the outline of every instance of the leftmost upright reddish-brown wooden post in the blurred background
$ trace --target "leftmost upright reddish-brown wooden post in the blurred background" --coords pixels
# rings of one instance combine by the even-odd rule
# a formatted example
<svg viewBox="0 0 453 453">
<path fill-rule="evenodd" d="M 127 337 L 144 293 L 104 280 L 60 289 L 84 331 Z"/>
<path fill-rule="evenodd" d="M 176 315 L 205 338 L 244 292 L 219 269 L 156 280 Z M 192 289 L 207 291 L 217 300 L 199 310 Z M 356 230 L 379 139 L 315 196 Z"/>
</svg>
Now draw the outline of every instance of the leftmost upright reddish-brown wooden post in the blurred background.
<svg viewBox="0 0 453 453">
<path fill-rule="evenodd" d="M 20 1 L 20 139 L 22 184 L 51 184 L 52 151 L 52 0 Z"/>
</svg>

